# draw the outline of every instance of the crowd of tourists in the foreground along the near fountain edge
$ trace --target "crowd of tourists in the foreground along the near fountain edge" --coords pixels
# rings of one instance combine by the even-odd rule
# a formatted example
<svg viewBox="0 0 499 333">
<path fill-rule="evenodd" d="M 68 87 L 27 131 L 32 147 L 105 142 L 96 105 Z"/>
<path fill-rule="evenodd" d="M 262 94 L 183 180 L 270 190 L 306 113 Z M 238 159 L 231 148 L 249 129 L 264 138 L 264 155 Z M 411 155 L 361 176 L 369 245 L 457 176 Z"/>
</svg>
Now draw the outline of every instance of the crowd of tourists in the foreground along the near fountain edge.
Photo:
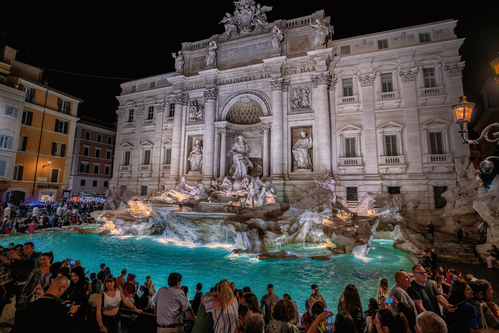
<svg viewBox="0 0 499 333">
<path fill-rule="evenodd" d="M 16 333 L 39 332 L 40 323 L 50 323 L 51 332 L 119 333 L 121 313 L 133 315 L 129 332 L 146 333 L 298 333 L 300 325 L 307 333 L 499 329 L 491 284 L 472 272 L 465 279 L 461 272 L 442 265 L 435 271 L 417 264 L 411 272 L 395 272 L 391 289 L 382 279 L 376 298 L 373 295 L 366 308 L 357 287 L 348 285 L 333 311 L 335 300 L 324 299 L 316 284 L 306 300 L 293 300 L 289 294 L 279 297 L 272 284 L 258 297 L 261 291 L 239 289 L 238 282 L 227 280 L 206 294 L 198 283 L 190 294 L 179 273 L 169 275 L 168 286 L 156 288 L 151 277 L 142 283 L 126 269 L 117 273 L 101 264 L 97 273 L 90 273 L 78 260 L 55 262 L 51 252 L 36 252 L 31 242 L 10 243 L 0 252 L 0 311 L 15 296 L 12 332 Z M 305 306 L 303 314 L 297 302 Z"/>
</svg>

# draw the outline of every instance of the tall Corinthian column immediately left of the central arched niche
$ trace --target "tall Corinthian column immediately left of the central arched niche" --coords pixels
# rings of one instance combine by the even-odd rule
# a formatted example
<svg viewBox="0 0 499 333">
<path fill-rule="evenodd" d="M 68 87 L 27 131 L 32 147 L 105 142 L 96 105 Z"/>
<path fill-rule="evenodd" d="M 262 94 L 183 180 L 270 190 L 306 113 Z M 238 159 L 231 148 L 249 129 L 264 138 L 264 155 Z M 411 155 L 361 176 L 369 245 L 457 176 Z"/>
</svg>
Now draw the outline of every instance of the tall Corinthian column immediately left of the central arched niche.
<svg viewBox="0 0 499 333">
<path fill-rule="evenodd" d="M 205 134 L 203 136 L 203 179 L 214 177 L 215 163 L 215 106 L 217 88 L 205 90 Z"/>
</svg>

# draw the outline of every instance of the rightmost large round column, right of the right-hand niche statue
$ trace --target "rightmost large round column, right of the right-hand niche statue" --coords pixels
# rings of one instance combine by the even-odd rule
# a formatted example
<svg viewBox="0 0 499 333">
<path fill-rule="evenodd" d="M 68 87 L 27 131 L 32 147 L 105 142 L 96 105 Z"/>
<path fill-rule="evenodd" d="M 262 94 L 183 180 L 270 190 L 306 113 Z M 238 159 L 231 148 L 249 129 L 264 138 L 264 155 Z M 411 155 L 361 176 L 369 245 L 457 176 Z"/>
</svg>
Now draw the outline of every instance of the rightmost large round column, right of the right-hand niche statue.
<svg viewBox="0 0 499 333">
<path fill-rule="evenodd" d="M 315 91 L 315 126 L 313 129 L 313 149 L 316 164 L 314 171 L 331 172 L 331 131 L 329 120 L 329 99 L 327 89 L 331 85 L 329 71 L 314 74 L 312 85 Z"/>
</svg>

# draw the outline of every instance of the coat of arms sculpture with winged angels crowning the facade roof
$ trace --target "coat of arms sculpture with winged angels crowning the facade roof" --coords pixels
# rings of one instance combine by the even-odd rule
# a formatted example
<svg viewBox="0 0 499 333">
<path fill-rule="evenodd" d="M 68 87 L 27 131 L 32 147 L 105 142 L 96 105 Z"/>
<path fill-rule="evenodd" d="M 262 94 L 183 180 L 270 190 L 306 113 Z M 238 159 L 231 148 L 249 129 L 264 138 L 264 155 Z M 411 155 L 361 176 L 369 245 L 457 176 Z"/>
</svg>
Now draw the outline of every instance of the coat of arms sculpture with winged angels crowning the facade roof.
<svg viewBox="0 0 499 333">
<path fill-rule="evenodd" d="M 271 6 L 261 6 L 259 3 L 255 4 L 253 0 L 234 1 L 234 4 L 236 4 L 234 15 L 226 13 L 220 21 L 220 23 L 225 23 L 226 39 L 229 39 L 233 34 L 241 35 L 252 32 L 258 26 L 261 30 L 266 30 L 265 25 L 268 22 L 265 12 L 272 10 Z"/>
</svg>

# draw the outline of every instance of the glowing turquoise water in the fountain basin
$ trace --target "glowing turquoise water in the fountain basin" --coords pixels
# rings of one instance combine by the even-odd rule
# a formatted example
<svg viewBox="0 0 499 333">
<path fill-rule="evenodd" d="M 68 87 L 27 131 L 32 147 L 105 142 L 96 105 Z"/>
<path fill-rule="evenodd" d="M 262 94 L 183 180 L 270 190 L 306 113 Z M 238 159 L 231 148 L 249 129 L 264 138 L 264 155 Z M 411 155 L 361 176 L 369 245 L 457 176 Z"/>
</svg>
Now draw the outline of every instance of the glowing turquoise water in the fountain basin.
<svg viewBox="0 0 499 333">
<path fill-rule="evenodd" d="M 274 285 L 274 293 L 282 298 L 287 293 L 305 311 L 304 303 L 311 294 L 310 285 L 319 286 L 328 308 L 336 312 L 341 292 L 348 284 L 357 286 L 364 310 L 368 300 L 376 297 L 382 278 L 392 287 L 393 276 L 398 270 L 410 271 L 414 265 L 409 253 L 392 248 L 392 241 L 374 240 L 365 257 L 335 255 L 331 261 L 308 259 L 327 256 L 331 252 L 317 244 L 288 244 L 282 250 L 295 254 L 297 260 L 259 261 L 256 255 L 231 255 L 234 244 L 186 245 L 170 242 L 161 236 L 99 237 L 89 234 L 49 232 L 2 237 L 6 246 L 33 242 L 36 251 L 52 251 L 56 261 L 66 258 L 80 260 L 85 270 L 98 272 L 105 263 L 116 277 L 123 268 L 137 274 L 137 281 L 144 283 L 151 276 L 156 288 L 167 285 L 171 272 L 182 274 L 182 285 L 189 287 L 192 299 L 195 286 L 203 284 L 209 291 L 216 282 L 227 279 L 236 288 L 250 286 L 258 298 L 263 296 L 267 284 Z M 117 274 L 116 274 L 117 273 Z"/>
</svg>

